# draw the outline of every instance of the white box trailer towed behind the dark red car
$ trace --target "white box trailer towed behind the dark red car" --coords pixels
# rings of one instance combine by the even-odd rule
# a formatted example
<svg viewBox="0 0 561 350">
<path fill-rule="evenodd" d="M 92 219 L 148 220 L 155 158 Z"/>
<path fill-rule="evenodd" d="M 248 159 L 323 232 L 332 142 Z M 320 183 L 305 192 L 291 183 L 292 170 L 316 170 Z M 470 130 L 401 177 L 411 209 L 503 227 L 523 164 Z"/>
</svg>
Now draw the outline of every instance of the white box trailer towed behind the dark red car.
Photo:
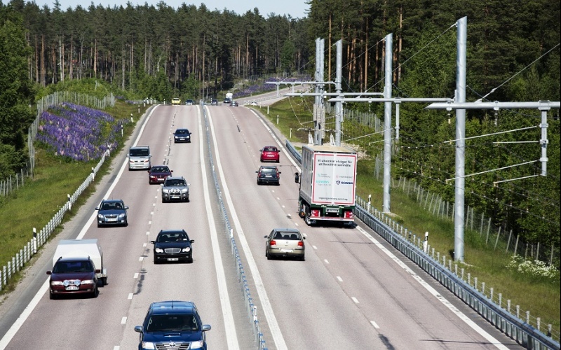
<svg viewBox="0 0 561 350">
<path fill-rule="evenodd" d="M 103 285 L 107 284 L 107 268 L 103 265 L 103 251 L 97 239 L 62 239 L 53 255 L 53 266 L 59 258 L 86 258 L 95 264 L 101 272 L 97 274 Z"/>
</svg>

